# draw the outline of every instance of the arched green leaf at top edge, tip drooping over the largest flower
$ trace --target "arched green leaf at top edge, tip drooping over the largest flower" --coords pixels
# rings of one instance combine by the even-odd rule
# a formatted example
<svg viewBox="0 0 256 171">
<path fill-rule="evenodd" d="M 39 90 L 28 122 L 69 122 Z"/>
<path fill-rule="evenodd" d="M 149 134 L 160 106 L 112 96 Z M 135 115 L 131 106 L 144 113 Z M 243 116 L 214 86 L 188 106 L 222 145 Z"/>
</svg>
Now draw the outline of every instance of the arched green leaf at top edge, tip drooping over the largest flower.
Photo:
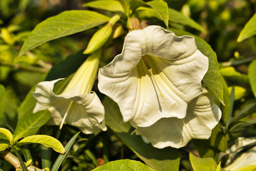
<svg viewBox="0 0 256 171">
<path fill-rule="evenodd" d="M 165 23 L 165 25 L 168 27 L 168 21 L 169 21 L 169 14 L 168 14 L 168 5 L 164 1 L 149 1 L 149 2 L 143 2 L 141 0 L 131 0 L 130 1 L 130 7 L 132 10 L 137 9 L 140 6 L 150 6 L 153 7 L 155 11 L 157 11 L 159 17 L 162 19 L 162 21 Z"/>
</svg>

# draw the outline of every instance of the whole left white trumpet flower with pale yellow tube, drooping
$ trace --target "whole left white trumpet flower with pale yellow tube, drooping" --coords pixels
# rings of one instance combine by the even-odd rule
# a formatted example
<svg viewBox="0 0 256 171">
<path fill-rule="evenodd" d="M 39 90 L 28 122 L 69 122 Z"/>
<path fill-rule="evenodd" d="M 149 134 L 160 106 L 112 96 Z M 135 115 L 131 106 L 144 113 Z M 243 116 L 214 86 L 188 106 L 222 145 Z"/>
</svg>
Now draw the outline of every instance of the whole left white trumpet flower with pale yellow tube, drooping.
<svg viewBox="0 0 256 171">
<path fill-rule="evenodd" d="M 97 94 L 91 92 L 99 58 L 99 51 L 89 56 L 59 95 L 55 95 L 53 88 L 61 79 L 39 83 L 32 93 L 37 100 L 33 112 L 49 109 L 51 119 L 47 124 L 70 124 L 86 134 L 106 131 L 104 107 Z"/>
</svg>

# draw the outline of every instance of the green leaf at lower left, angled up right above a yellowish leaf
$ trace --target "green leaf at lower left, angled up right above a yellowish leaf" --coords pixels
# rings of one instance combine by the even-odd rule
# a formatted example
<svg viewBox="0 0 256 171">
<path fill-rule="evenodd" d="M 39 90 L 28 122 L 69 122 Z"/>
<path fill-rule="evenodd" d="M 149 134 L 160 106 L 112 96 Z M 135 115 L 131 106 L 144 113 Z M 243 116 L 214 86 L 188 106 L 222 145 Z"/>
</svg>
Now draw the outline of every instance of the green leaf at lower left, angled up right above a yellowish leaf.
<svg viewBox="0 0 256 171">
<path fill-rule="evenodd" d="M 15 129 L 14 141 L 37 133 L 38 129 L 41 128 L 50 117 L 51 113 L 48 110 L 39 111 L 25 117 Z"/>
</svg>

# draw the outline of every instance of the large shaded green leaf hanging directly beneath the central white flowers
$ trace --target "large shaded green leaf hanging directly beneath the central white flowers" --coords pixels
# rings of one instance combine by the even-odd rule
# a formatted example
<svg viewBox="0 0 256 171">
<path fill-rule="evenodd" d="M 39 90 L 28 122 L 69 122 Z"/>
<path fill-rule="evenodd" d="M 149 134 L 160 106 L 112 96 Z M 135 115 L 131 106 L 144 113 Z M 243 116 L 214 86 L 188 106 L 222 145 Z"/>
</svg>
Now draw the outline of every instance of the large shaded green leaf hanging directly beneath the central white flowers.
<svg viewBox="0 0 256 171">
<path fill-rule="evenodd" d="M 109 97 L 105 97 L 103 105 L 106 112 L 106 124 L 139 158 L 157 170 L 179 170 L 179 153 L 174 148 L 154 148 L 136 136 L 130 123 L 123 123 L 118 105 Z"/>
</svg>

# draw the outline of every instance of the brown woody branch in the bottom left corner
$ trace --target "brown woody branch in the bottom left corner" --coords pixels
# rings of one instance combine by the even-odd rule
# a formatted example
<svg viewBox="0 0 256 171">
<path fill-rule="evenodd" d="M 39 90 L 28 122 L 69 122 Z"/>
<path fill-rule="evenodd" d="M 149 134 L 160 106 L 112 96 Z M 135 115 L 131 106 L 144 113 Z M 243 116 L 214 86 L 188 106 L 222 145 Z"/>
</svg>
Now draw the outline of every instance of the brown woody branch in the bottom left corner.
<svg viewBox="0 0 256 171">
<path fill-rule="evenodd" d="M 0 157 L 4 158 L 6 161 L 10 162 L 11 165 L 14 166 L 14 168 L 16 169 L 16 171 L 21 171 L 21 164 L 18 160 L 18 158 L 16 156 L 14 156 L 13 154 L 11 154 L 8 150 L 3 151 L 2 153 L 0 153 Z M 39 169 L 36 168 L 35 166 L 29 166 L 27 167 L 27 170 L 29 171 L 45 171 L 45 169 Z"/>
</svg>

